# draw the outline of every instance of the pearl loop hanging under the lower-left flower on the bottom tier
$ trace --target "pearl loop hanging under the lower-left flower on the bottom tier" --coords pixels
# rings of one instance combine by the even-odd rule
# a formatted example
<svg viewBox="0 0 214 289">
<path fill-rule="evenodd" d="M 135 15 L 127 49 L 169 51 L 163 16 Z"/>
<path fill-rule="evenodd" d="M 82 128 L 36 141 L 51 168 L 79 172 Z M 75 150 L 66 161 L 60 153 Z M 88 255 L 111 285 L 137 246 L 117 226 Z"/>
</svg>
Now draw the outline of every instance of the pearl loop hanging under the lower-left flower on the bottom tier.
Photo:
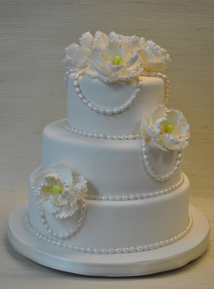
<svg viewBox="0 0 214 289">
<path fill-rule="evenodd" d="M 72 230 L 69 230 L 69 232 L 66 232 L 66 233 L 63 233 L 63 234 L 60 234 L 58 232 L 54 232 L 54 230 L 51 229 L 51 227 L 48 225 L 46 217 L 45 217 L 45 214 L 40 212 L 40 218 L 41 218 L 42 225 L 43 225 L 44 229 L 48 232 L 49 235 L 51 235 L 51 236 L 53 236 L 55 238 L 59 238 L 59 239 L 66 239 L 66 238 L 72 236 L 76 231 L 79 230 L 79 227 L 83 223 L 83 219 L 85 217 L 85 210 L 86 210 L 84 198 L 82 198 L 80 200 L 80 202 L 82 203 L 82 205 L 81 205 L 81 208 L 80 208 L 81 213 L 80 213 L 80 216 L 79 216 L 79 220 L 77 221 L 75 227 Z"/>
</svg>

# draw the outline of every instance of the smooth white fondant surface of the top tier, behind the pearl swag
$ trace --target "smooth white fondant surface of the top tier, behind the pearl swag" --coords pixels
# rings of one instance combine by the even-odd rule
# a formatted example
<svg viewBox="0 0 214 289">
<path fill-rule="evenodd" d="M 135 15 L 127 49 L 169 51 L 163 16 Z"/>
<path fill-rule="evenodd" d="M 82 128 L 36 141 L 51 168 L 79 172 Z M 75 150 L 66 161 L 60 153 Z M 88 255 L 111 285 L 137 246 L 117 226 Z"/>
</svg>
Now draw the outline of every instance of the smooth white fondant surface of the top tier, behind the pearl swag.
<svg viewBox="0 0 214 289">
<path fill-rule="evenodd" d="M 150 115 L 154 107 L 165 102 L 163 79 L 141 76 L 142 88 L 128 109 L 112 115 L 96 113 L 84 105 L 75 93 L 74 74 L 69 74 L 67 82 L 68 125 L 85 132 L 120 136 L 139 134 L 143 113 Z M 87 75 L 80 76 L 78 82 L 85 98 L 105 109 L 123 106 L 133 95 L 137 86 L 136 80 L 106 84 Z"/>
</svg>

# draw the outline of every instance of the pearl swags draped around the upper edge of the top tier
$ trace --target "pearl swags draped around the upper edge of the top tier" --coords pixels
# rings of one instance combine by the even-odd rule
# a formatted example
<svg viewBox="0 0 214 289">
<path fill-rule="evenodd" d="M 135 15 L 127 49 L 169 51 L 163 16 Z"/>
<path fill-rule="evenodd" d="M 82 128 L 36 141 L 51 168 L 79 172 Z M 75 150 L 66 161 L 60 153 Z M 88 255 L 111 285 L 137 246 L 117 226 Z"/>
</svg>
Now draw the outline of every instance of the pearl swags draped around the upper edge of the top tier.
<svg viewBox="0 0 214 289">
<path fill-rule="evenodd" d="M 120 106 L 119 108 L 114 108 L 114 109 L 104 109 L 104 108 L 99 108 L 97 106 L 95 106 L 94 104 L 90 103 L 85 96 L 81 93 L 81 89 L 79 88 L 79 77 L 81 75 L 83 75 L 83 71 L 80 68 L 76 68 L 76 69 L 69 69 L 68 71 L 66 71 L 65 73 L 65 77 L 64 77 L 64 89 L 65 89 L 65 94 L 67 95 L 67 82 L 68 82 L 68 75 L 70 73 L 75 73 L 74 75 L 74 88 L 75 88 L 75 92 L 78 95 L 79 99 L 83 102 L 83 104 L 85 104 L 89 109 L 97 112 L 97 113 L 101 113 L 101 114 L 116 114 L 119 113 L 121 111 L 125 111 L 129 106 L 132 105 L 132 103 L 135 101 L 136 97 L 138 96 L 139 92 L 140 92 L 140 88 L 142 87 L 142 78 L 140 76 L 136 77 L 136 81 L 137 81 L 137 88 L 135 90 L 135 92 L 133 93 L 133 95 L 131 96 L 131 98 L 129 99 L 128 102 L 126 102 L 124 105 Z M 159 77 L 162 78 L 163 81 L 165 82 L 165 101 L 164 103 L 166 104 L 169 98 L 169 93 L 170 93 L 170 82 L 167 78 L 166 75 L 163 75 L 160 72 L 153 72 L 153 71 L 143 71 L 141 73 L 142 76 L 151 76 L 151 77 Z"/>
</svg>

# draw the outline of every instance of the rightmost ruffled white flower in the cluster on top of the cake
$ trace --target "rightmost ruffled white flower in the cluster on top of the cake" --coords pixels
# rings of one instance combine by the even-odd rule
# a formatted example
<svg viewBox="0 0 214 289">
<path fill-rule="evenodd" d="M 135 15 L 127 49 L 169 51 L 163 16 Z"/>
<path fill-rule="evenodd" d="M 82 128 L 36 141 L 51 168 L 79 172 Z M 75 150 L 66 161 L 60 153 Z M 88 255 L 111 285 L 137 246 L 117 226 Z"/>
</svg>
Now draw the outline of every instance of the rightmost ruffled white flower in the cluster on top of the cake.
<svg viewBox="0 0 214 289">
<path fill-rule="evenodd" d="M 162 72 L 172 61 L 167 51 L 155 44 L 152 40 L 145 41 L 144 38 L 140 38 L 139 47 L 142 48 L 138 51 L 143 59 L 143 68 L 145 71 Z"/>
</svg>

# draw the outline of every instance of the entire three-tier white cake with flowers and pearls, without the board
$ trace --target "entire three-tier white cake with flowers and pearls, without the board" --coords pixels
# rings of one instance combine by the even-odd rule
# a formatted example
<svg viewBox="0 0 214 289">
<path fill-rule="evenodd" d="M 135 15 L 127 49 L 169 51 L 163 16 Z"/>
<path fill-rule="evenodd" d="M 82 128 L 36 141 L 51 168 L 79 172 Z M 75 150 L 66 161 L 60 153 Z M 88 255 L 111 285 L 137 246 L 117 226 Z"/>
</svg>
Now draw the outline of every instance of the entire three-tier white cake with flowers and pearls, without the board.
<svg viewBox="0 0 214 289">
<path fill-rule="evenodd" d="M 164 105 L 169 55 L 151 40 L 114 32 L 87 32 L 80 44 L 66 48 L 67 119 L 44 128 L 27 228 L 80 254 L 174 243 L 192 217 L 181 172 L 189 125 Z"/>
</svg>

